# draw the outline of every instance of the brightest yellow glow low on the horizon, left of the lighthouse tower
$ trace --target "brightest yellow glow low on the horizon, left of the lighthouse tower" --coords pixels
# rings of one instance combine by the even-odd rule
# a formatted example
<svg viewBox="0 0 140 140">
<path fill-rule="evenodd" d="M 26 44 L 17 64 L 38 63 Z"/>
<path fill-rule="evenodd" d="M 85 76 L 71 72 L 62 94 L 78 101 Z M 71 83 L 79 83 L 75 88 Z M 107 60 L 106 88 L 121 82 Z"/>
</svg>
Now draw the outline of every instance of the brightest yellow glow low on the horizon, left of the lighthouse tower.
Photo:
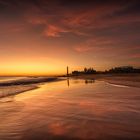
<svg viewBox="0 0 140 140">
<path fill-rule="evenodd" d="M 0 75 L 59 75 L 64 74 L 65 66 L 41 63 L 14 63 L 3 65 Z"/>
</svg>

